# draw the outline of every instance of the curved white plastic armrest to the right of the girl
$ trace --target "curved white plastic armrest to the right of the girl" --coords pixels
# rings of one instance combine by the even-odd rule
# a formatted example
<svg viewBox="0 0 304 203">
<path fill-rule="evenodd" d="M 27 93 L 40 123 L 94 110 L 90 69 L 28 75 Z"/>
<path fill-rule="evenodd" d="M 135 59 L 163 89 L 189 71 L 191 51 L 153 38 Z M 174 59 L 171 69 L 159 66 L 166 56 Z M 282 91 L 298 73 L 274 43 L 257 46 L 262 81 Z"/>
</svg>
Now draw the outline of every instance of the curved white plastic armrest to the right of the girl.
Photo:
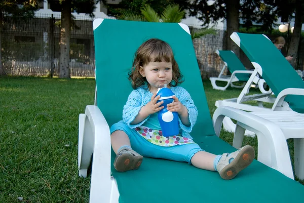
<svg viewBox="0 0 304 203">
<path fill-rule="evenodd" d="M 291 161 L 285 136 L 275 123 L 254 114 L 232 107 L 218 107 L 213 114 L 212 121 L 215 134 L 219 136 L 224 117 L 238 121 L 243 129 L 254 132 L 258 139 L 258 153 L 269 154 L 269 158 L 261 161 L 263 164 L 277 169 L 293 179 Z M 240 131 L 239 131 L 240 132 Z M 243 133 L 245 130 L 243 131 Z M 239 136 L 235 134 L 235 136 Z M 262 147 L 267 146 L 267 147 Z M 258 155 L 259 156 L 259 155 Z"/>
</svg>

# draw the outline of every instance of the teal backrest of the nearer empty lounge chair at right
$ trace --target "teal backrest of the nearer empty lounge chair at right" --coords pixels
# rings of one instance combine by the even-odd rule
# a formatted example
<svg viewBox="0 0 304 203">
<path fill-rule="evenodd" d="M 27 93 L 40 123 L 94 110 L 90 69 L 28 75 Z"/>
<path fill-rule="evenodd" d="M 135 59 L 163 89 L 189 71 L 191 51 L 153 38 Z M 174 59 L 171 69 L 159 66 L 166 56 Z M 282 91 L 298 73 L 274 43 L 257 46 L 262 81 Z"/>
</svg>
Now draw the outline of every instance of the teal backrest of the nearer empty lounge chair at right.
<svg viewBox="0 0 304 203">
<path fill-rule="evenodd" d="M 303 80 L 267 36 L 234 32 L 230 37 L 259 69 L 259 74 L 275 95 L 287 88 L 304 89 Z M 290 95 L 285 101 L 293 110 L 304 113 L 304 96 Z"/>
</svg>

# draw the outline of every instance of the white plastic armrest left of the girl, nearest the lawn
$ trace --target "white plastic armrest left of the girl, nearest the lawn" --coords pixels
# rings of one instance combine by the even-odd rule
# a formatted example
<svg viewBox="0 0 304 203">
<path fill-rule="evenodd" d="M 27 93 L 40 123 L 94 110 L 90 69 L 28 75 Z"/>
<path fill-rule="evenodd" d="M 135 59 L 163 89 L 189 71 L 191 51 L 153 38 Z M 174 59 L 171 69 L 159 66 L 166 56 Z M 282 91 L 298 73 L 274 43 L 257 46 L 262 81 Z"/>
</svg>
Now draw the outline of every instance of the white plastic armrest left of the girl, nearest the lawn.
<svg viewBox="0 0 304 203">
<path fill-rule="evenodd" d="M 93 199 L 100 198 L 101 191 L 107 194 L 101 198 L 110 198 L 113 184 L 110 129 L 100 109 L 94 105 L 86 106 L 82 148 L 82 155 L 88 150 L 93 152 L 90 202 L 98 202 Z"/>
</svg>

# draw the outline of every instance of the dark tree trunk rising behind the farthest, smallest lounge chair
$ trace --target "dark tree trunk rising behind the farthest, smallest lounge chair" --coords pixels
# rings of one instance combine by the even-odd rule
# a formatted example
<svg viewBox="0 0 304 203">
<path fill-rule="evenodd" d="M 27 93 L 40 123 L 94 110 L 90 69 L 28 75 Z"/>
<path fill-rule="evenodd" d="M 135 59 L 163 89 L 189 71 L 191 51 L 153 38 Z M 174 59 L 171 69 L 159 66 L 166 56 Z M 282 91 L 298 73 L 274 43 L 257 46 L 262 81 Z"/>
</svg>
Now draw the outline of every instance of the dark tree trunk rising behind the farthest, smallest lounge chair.
<svg viewBox="0 0 304 203">
<path fill-rule="evenodd" d="M 240 48 L 233 42 L 230 35 L 233 32 L 239 31 L 239 0 L 225 1 L 226 5 L 226 48 L 227 50 L 232 50 L 234 53 L 240 57 Z"/>
</svg>

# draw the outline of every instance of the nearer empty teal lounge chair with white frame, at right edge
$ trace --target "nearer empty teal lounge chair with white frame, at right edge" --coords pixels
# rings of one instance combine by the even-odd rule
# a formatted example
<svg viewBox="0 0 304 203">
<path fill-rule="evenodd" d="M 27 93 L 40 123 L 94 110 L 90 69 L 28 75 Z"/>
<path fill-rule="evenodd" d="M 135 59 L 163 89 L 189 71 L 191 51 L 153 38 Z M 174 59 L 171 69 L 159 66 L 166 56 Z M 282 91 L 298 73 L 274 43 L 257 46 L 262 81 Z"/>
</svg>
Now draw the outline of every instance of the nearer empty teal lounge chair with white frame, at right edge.
<svg viewBox="0 0 304 203">
<path fill-rule="evenodd" d="M 295 175 L 304 179 L 304 83 L 301 77 L 267 36 L 235 32 L 231 38 L 248 56 L 255 70 L 238 98 L 216 101 L 215 105 L 252 111 L 275 123 L 283 131 L 286 140 L 294 138 Z M 246 96 L 257 74 L 265 79 L 276 98 L 266 94 Z M 243 103 L 249 100 L 257 101 L 258 106 Z M 273 103 L 272 108 L 264 107 L 264 102 Z M 236 125 L 231 119 L 225 118 L 224 129 L 235 131 Z M 236 138 L 233 146 L 240 147 L 242 140 L 242 136 Z M 267 157 L 261 155 L 260 158 L 258 160 L 262 161 Z M 292 172 L 291 166 L 289 169 Z"/>
</svg>

